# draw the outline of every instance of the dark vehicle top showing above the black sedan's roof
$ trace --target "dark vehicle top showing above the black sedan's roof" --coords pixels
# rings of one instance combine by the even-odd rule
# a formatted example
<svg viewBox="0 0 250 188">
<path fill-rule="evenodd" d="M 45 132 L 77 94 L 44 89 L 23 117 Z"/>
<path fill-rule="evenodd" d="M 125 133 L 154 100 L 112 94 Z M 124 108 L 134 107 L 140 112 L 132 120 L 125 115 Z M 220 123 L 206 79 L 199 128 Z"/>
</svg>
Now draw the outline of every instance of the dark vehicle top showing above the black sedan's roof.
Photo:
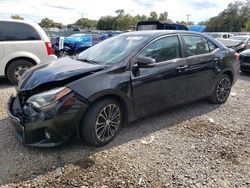
<svg viewBox="0 0 250 188">
<path fill-rule="evenodd" d="M 169 23 L 167 21 L 141 21 L 137 23 L 136 31 L 145 30 L 188 30 L 187 26 Z"/>
</svg>

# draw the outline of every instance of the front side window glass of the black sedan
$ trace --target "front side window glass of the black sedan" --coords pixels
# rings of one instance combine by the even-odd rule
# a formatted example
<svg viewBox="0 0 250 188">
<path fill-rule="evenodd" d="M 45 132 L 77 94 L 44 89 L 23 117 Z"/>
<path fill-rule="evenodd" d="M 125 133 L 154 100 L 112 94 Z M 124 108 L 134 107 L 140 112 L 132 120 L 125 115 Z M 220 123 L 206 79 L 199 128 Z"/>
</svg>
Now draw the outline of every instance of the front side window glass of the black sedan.
<svg viewBox="0 0 250 188">
<path fill-rule="evenodd" d="M 178 36 L 158 39 L 142 50 L 139 56 L 155 59 L 156 63 L 181 57 Z"/>
</svg>

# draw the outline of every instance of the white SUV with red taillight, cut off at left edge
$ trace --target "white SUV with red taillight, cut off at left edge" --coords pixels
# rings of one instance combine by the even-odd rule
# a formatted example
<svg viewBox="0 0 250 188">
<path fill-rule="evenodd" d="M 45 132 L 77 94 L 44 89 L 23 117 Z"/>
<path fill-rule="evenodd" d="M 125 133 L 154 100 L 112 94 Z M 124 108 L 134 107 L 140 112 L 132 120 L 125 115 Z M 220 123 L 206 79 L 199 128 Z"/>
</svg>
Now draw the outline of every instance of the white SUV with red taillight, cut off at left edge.
<svg viewBox="0 0 250 188">
<path fill-rule="evenodd" d="M 29 67 L 54 59 L 50 40 L 38 24 L 0 20 L 0 77 L 17 84 Z"/>
</svg>

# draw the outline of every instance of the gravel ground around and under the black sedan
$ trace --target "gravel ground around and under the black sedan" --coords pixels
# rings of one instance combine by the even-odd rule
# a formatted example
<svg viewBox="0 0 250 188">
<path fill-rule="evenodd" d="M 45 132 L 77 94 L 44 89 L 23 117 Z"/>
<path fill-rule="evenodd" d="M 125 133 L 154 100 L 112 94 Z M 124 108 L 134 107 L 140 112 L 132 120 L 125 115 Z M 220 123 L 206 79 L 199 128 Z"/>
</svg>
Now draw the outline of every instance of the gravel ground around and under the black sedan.
<svg viewBox="0 0 250 188">
<path fill-rule="evenodd" d="M 140 119 L 103 148 L 77 140 L 52 149 L 23 147 L 4 109 L 12 92 L 1 81 L 3 187 L 250 187 L 249 75 L 240 76 L 226 104 L 199 101 Z M 63 168 L 56 176 L 59 156 Z"/>
</svg>

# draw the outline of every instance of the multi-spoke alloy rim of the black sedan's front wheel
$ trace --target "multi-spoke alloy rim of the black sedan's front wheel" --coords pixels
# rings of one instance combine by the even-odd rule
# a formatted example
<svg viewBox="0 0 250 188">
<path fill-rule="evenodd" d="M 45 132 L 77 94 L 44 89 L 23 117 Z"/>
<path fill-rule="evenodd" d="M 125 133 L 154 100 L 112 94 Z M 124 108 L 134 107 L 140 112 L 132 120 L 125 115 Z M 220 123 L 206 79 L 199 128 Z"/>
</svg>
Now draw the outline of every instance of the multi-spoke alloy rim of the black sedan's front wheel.
<svg viewBox="0 0 250 188">
<path fill-rule="evenodd" d="M 99 141 L 112 139 L 121 124 L 121 111 L 115 104 L 105 106 L 97 116 L 95 133 Z"/>
</svg>

